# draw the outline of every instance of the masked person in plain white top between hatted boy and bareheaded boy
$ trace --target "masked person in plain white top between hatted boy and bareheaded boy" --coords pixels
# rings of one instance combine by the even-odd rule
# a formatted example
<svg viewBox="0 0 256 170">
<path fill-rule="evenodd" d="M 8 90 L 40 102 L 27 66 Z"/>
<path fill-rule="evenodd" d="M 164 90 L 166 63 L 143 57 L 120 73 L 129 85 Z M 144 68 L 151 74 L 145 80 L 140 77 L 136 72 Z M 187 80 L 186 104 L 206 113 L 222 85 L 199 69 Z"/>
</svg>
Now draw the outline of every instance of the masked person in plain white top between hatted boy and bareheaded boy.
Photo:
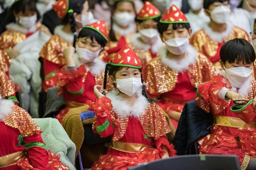
<svg viewBox="0 0 256 170">
<path fill-rule="evenodd" d="M 210 18 L 204 13 L 203 2 L 203 0 L 188 0 L 190 10 L 186 13 L 186 17 L 190 21 L 192 34 L 210 22 Z"/>
</svg>

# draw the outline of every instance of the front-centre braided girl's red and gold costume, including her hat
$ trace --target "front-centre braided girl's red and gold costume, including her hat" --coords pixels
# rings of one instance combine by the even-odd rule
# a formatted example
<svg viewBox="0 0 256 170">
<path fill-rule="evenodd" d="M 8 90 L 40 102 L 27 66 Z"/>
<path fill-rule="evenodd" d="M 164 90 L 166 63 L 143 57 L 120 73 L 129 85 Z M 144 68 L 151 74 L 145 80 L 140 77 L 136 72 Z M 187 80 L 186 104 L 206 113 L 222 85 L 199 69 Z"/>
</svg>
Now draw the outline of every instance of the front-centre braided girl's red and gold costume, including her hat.
<svg viewBox="0 0 256 170">
<path fill-rule="evenodd" d="M 142 66 L 138 56 L 128 46 L 122 48 L 109 63 L 138 69 Z M 112 137 L 108 153 L 100 156 L 92 170 L 126 169 L 160 159 L 165 153 L 161 146 L 166 146 L 169 156 L 175 156 L 174 146 L 165 137 L 171 129 L 163 112 L 156 103 L 148 102 L 142 95 L 142 89 L 136 96 L 132 106 L 115 90 L 94 102 L 86 101 L 90 106 L 88 110 L 96 115 L 92 125 L 94 133 Z"/>
</svg>

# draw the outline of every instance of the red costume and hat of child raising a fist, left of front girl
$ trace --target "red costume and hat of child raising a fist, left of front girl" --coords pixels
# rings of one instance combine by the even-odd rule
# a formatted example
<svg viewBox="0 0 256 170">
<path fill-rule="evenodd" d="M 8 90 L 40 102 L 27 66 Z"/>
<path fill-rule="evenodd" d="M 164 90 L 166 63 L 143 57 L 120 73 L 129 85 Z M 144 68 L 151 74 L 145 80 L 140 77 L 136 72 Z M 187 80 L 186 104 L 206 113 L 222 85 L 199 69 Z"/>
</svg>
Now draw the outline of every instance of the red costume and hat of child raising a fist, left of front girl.
<svg viewBox="0 0 256 170">
<path fill-rule="evenodd" d="M 85 28 L 93 29 L 108 40 L 105 21 L 97 21 L 86 25 Z M 86 100 L 95 100 L 93 94 L 94 85 L 103 85 L 104 70 L 106 63 L 96 58 L 93 61 L 93 66 L 88 66 L 82 63 L 77 54 L 74 55 L 74 60 L 77 66 L 76 69 L 63 67 L 57 73 L 59 77 L 58 89 L 59 94 L 63 94 L 63 98 L 67 107 L 62 109 L 56 118 L 62 123 L 63 117 L 68 113 L 70 108 L 80 107 L 85 105 Z"/>
</svg>

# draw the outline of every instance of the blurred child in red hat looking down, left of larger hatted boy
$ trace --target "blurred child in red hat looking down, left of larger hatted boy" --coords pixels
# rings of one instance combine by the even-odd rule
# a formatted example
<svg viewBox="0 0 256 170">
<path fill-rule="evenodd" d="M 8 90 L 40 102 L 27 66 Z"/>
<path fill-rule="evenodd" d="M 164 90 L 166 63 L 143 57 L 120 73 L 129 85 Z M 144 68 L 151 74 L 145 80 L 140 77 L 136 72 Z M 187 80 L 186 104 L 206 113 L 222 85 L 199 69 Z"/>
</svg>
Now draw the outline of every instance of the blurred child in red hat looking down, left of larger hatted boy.
<svg viewBox="0 0 256 170">
<path fill-rule="evenodd" d="M 131 45 L 133 51 L 139 56 L 144 65 L 156 57 L 163 42 L 157 31 L 157 23 L 161 18 L 161 12 L 148 1 L 136 16 L 136 24 L 139 33 L 132 35 Z"/>
</svg>

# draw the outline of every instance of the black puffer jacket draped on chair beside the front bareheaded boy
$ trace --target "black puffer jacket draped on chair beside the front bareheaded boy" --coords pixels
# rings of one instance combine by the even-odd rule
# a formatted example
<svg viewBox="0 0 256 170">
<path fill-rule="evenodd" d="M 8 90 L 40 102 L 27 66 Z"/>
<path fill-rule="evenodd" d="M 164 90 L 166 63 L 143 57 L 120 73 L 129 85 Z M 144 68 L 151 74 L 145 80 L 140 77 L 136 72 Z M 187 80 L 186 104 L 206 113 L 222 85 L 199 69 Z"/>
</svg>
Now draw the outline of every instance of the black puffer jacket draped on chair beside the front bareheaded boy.
<svg viewBox="0 0 256 170">
<path fill-rule="evenodd" d="M 173 139 L 177 154 L 195 154 L 195 141 L 210 134 L 212 123 L 212 114 L 199 108 L 196 100 L 186 103 Z"/>
</svg>

